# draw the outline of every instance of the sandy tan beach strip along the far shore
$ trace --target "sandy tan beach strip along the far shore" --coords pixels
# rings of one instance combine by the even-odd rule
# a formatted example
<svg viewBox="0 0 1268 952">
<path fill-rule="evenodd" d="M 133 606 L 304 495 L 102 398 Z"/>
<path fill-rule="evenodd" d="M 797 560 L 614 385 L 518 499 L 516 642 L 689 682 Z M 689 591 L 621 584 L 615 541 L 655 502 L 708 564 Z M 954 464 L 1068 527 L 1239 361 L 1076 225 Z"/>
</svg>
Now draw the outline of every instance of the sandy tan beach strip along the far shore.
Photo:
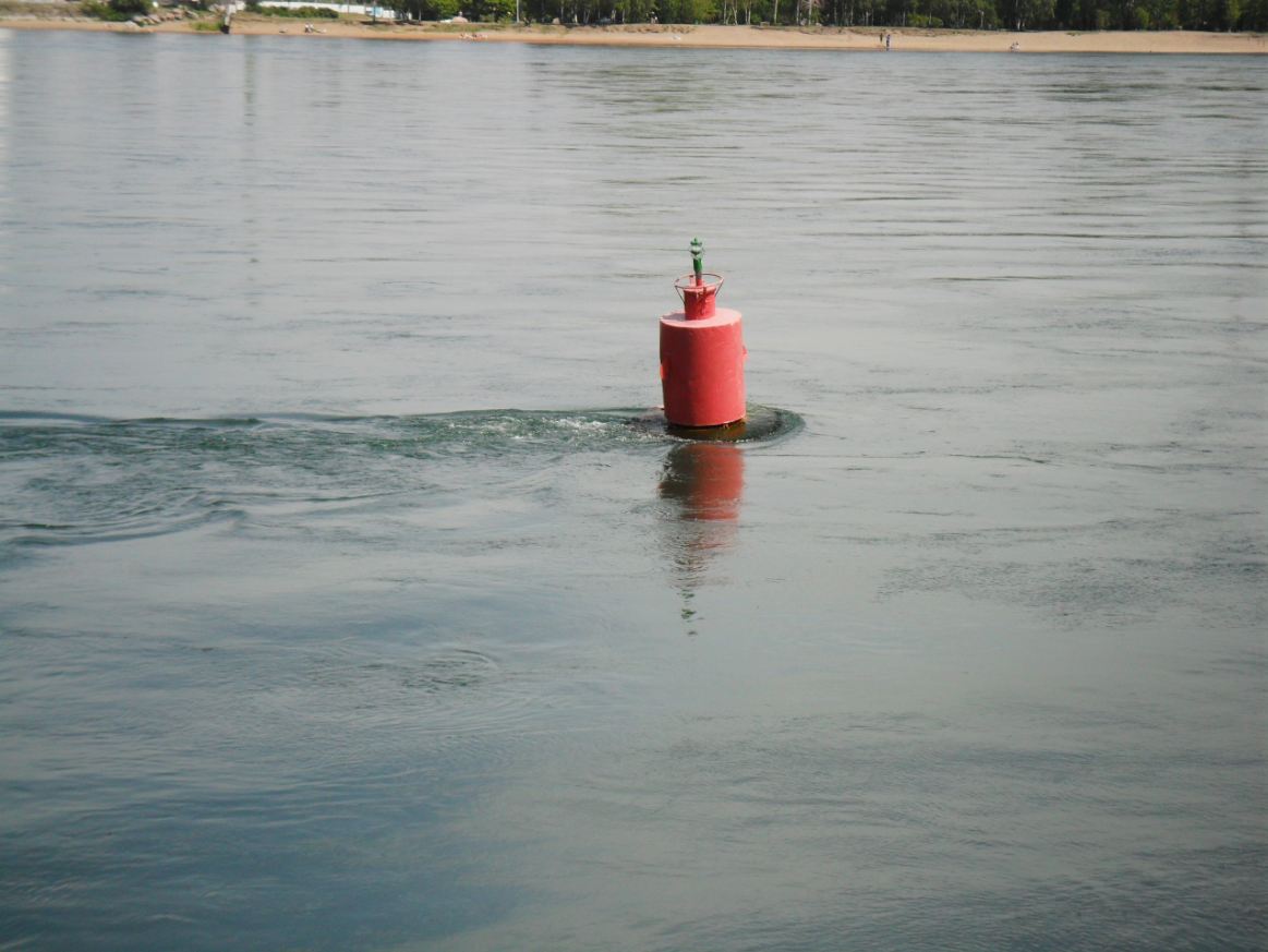
<svg viewBox="0 0 1268 952">
<path fill-rule="evenodd" d="M 957 53 L 1161 53 L 1161 55 L 1263 55 L 1268 34 L 1168 32 L 1033 32 L 904 29 L 881 27 L 700 27 L 630 24 L 614 27 L 508 27 L 500 24 L 372 24 L 360 20 L 304 22 L 240 14 L 232 32 L 241 35 L 290 35 L 309 39 L 394 39 L 420 42 L 531 43 L 539 46 L 680 47 L 689 49 L 839 49 L 883 52 L 885 33 L 893 35 L 891 52 Z M 205 33 L 190 20 L 153 25 L 107 23 L 82 18 L 5 18 L 0 29 L 90 30 L 108 33 Z"/>
</svg>

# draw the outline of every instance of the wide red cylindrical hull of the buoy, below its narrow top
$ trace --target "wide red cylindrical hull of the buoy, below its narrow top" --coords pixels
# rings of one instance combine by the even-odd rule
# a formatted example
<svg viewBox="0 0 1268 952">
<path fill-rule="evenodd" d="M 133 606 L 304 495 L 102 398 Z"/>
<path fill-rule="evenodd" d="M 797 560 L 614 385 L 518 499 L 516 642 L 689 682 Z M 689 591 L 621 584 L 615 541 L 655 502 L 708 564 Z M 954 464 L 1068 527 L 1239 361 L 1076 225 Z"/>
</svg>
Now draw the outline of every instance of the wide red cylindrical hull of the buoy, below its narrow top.
<svg viewBox="0 0 1268 952">
<path fill-rule="evenodd" d="M 744 418 L 744 337 L 738 311 L 661 318 L 664 417 L 675 426 L 724 426 Z"/>
</svg>

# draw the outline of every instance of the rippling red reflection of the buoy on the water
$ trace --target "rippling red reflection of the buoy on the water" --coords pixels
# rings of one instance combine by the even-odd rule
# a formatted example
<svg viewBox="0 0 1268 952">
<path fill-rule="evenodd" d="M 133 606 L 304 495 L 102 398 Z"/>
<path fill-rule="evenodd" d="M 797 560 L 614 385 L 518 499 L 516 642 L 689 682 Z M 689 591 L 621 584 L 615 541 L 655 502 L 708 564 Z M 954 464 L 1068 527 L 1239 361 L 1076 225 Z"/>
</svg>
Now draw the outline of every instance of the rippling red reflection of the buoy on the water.
<svg viewBox="0 0 1268 952">
<path fill-rule="evenodd" d="M 680 444 L 664 458 L 659 494 L 668 503 L 666 540 L 689 634 L 696 634 L 696 588 L 715 556 L 734 545 L 743 493 L 744 454 L 734 444 Z"/>
</svg>

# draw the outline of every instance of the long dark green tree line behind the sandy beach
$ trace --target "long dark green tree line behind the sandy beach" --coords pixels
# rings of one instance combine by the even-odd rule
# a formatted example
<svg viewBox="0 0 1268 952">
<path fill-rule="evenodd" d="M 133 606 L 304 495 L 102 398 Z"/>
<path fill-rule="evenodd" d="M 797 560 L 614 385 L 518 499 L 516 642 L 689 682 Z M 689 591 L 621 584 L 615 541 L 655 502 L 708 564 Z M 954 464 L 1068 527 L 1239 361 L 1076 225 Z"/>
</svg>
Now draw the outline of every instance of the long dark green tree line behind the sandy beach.
<svg viewBox="0 0 1268 952">
<path fill-rule="evenodd" d="M 424 20 L 515 19 L 515 0 L 389 0 Z M 950 29 L 1265 30 L 1268 0 L 520 0 L 534 23 L 735 23 Z"/>
</svg>

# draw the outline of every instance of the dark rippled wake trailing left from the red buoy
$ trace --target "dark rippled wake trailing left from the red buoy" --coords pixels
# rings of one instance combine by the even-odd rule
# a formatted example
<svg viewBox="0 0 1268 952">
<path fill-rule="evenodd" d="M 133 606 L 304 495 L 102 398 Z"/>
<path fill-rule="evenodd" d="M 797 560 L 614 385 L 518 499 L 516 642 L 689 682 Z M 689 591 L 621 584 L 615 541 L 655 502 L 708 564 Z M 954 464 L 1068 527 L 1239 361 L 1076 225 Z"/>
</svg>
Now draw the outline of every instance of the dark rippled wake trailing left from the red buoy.
<svg viewBox="0 0 1268 952">
<path fill-rule="evenodd" d="M 800 421 L 754 408 L 787 431 Z M 427 416 L 261 415 L 108 420 L 0 412 L 0 545 L 141 539 L 261 510 L 328 510 L 460 492 L 472 468 L 508 486 L 576 454 L 659 450 L 676 437 L 637 409 Z"/>
</svg>

